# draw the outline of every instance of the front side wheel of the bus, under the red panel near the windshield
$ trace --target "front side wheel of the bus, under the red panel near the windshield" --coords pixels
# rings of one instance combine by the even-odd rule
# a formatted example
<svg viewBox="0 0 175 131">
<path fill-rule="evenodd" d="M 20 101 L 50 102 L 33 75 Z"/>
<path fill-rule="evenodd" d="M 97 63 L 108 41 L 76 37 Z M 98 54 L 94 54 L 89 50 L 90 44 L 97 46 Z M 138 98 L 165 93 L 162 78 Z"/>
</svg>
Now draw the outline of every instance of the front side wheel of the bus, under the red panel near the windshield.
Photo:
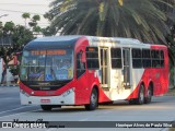
<svg viewBox="0 0 175 131">
<path fill-rule="evenodd" d="M 92 90 L 91 96 L 90 96 L 90 104 L 85 105 L 86 110 L 95 110 L 97 107 L 98 103 L 98 97 L 97 97 L 97 91 L 95 88 Z"/>
</svg>

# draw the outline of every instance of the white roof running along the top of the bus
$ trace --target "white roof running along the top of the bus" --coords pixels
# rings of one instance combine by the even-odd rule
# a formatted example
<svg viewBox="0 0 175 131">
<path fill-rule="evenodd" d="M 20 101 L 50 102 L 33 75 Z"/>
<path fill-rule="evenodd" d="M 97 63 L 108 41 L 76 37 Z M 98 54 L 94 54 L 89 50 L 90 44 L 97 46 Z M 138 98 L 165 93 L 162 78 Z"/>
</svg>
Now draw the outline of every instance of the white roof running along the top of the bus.
<svg viewBox="0 0 175 131">
<path fill-rule="evenodd" d="M 70 41 L 85 37 L 90 46 L 106 46 L 106 47 L 138 47 L 149 48 L 154 44 L 143 44 L 135 38 L 122 38 L 122 37 L 98 37 L 98 36 L 85 36 L 85 35 L 66 35 L 66 36 L 51 36 L 36 38 L 33 41 Z M 159 45 L 163 46 L 163 45 Z"/>
</svg>

